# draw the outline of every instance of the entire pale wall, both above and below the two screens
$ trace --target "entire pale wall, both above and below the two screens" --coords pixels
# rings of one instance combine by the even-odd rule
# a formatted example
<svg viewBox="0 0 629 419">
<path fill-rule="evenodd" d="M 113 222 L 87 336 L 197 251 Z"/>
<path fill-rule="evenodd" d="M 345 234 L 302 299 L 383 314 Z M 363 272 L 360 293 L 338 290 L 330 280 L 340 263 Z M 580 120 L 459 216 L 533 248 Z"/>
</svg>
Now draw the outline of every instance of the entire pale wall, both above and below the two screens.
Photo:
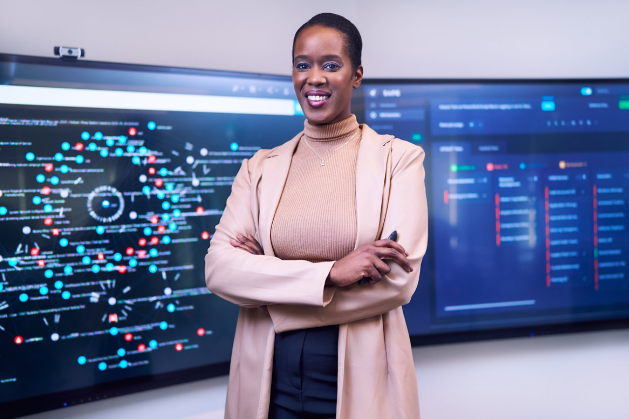
<svg viewBox="0 0 629 419">
<path fill-rule="evenodd" d="M 366 77 L 628 77 L 626 0 L 0 0 L 0 52 L 290 72 L 294 31 L 354 21 Z M 629 331 L 415 348 L 423 419 L 629 415 Z M 222 417 L 226 378 L 28 416 Z"/>
</svg>

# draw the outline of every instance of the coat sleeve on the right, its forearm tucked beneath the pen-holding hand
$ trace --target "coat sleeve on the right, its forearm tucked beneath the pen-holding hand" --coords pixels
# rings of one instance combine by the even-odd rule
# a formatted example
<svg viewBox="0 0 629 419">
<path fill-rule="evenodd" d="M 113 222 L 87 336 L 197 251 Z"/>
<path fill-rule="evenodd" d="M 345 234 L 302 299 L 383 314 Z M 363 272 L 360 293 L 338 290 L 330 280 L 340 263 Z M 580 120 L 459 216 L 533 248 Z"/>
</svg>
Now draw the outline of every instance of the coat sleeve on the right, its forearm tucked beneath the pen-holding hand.
<svg viewBox="0 0 629 419">
<path fill-rule="evenodd" d="M 270 305 L 269 314 L 276 332 L 349 323 L 381 315 L 411 300 L 428 242 L 423 160 L 424 152 L 417 146 L 404 148 L 397 158 L 382 226 L 386 235 L 394 229 L 398 231 L 398 242 L 408 252 L 413 272 L 407 273 L 397 263 L 389 263 L 391 272 L 381 281 L 372 286 L 338 287 L 325 307 Z"/>
</svg>

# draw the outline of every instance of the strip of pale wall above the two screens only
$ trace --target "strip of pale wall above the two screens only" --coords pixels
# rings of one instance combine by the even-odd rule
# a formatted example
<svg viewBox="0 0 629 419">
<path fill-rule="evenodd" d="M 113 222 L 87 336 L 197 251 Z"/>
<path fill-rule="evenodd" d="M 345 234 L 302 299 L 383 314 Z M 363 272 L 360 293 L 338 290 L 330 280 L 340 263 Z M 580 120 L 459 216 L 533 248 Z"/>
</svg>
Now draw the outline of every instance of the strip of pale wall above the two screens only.
<svg viewBox="0 0 629 419">
<path fill-rule="evenodd" d="M 351 19 L 365 77 L 626 77 L 626 0 L 0 0 L 0 52 L 289 74 L 315 13 Z"/>
</svg>

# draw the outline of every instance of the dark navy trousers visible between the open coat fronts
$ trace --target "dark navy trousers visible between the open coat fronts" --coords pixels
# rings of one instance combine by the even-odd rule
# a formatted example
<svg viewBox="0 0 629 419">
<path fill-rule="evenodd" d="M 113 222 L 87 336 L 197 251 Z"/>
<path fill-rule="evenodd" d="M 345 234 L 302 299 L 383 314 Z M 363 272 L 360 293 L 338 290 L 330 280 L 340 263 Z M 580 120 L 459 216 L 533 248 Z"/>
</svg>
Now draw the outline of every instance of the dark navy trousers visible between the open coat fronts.
<svg viewBox="0 0 629 419">
<path fill-rule="evenodd" d="M 338 325 L 276 335 L 269 419 L 334 419 Z"/>
</svg>

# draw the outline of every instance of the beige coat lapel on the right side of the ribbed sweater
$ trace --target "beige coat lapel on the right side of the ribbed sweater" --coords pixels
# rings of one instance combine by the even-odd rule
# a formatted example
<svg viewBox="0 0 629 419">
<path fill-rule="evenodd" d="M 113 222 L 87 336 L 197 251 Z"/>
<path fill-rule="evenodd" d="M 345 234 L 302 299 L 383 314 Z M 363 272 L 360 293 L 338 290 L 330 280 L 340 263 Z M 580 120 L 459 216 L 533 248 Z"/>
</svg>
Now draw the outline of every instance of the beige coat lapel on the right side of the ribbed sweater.
<svg viewBox="0 0 629 419">
<path fill-rule="evenodd" d="M 356 234 L 355 248 L 380 239 L 382 234 L 382 202 L 388 196 L 389 178 L 386 176 L 391 148 L 390 135 L 379 135 L 362 124 L 362 138 L 356 161 Z M 388 234 L 388 233 L 387 233 Z"/>
</svg>

